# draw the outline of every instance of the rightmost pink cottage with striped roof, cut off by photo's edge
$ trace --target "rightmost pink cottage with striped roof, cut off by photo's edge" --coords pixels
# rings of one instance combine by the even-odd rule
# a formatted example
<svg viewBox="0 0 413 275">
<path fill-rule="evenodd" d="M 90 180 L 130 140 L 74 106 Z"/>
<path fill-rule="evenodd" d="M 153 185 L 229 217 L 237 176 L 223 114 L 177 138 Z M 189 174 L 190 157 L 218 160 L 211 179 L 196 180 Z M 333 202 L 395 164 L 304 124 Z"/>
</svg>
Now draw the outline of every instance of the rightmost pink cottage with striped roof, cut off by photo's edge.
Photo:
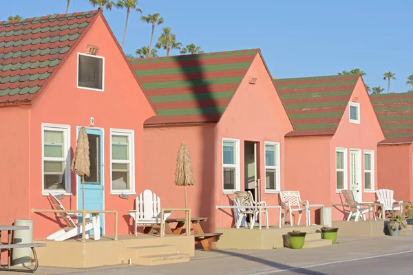
<svg viewBox="0 0 413 275">
<path fill-rule="evenodd" d="M 379 142 L 379 188 L 394 190 L 394 199 L 413 200 L 413 94 L 372 95 L 385 140 Z"/>
</svg>

